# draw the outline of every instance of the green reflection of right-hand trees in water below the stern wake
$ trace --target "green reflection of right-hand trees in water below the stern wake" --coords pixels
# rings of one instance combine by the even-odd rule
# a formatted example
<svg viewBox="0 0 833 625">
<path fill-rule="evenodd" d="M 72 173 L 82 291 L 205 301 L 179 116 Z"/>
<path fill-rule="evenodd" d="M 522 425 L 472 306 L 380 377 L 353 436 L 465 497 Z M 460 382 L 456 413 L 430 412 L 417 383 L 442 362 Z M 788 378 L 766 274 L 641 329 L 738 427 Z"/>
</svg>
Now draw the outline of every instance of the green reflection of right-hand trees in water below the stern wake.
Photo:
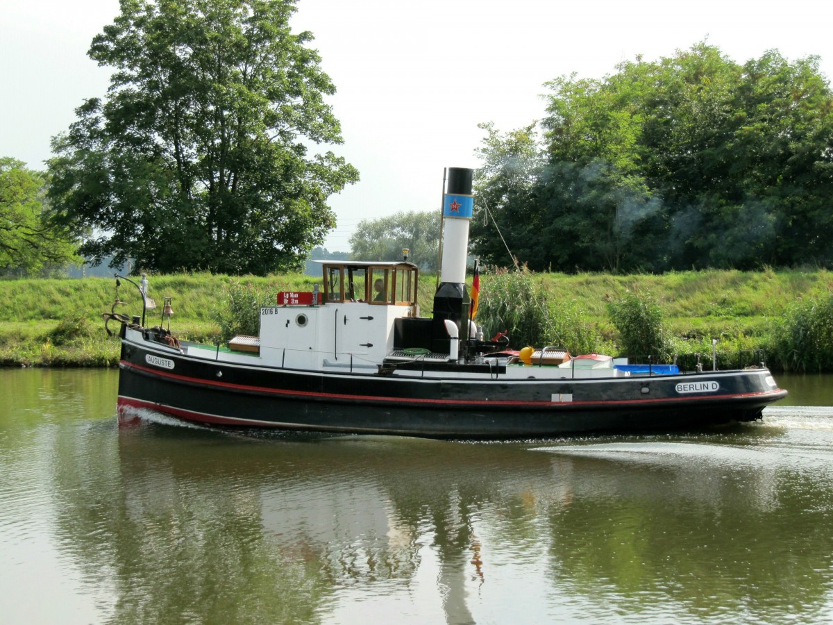
<svg viewBox="0 0 833 625">
<path fill-rule="evenodd" d="M 621 613 L 811 616 L 831 581 L 830 478 L 777 450 L 697 447 L 573 457 L 575 497 L 549 518 L 553 579 Z"/>
</svg>

